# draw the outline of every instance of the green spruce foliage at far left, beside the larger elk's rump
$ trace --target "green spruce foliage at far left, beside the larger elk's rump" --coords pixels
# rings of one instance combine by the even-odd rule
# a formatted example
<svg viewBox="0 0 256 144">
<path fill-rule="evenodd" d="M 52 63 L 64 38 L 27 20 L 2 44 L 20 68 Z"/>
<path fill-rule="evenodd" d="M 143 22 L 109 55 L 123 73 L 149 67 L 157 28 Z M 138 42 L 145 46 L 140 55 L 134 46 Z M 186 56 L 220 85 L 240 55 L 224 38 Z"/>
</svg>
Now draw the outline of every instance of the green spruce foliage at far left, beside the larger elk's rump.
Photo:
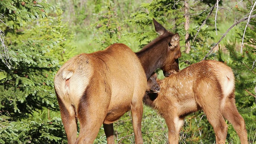
<svg viewBox="0 0 256 144">
<path fill-rule="evenodd" d="M 35 117 L 58 111 L 54 74 L 74 55 L 61 12 L 47 16 L 54 9 L 35 0 L 0 1 L 0 143 L 66 142 L 60 116 Z"/>
</svg>

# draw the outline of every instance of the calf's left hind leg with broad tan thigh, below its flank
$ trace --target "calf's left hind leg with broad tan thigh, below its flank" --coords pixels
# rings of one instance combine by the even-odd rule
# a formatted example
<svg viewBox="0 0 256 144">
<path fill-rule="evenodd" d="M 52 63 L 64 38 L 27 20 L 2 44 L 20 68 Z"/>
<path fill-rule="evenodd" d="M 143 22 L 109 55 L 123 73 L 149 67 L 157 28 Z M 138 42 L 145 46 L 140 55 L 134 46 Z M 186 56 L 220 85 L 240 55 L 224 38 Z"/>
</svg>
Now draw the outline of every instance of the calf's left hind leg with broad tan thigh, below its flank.
<svg viewBox="0 0 256 144">
<path fill-rule="evenodd" d="M 209 86 L 209 81 L 211 86 Z M 207 88 L 207 90 L 204 88 Z M 222 97 L 220 84 L 214 79 L 202 80 L 197 83 L 194 92 L 196 102 L 202 108 L 214 129 L 216 144 L 225 144 L 228 126 L 220 110 L 220 98 Z"/>
</svg>

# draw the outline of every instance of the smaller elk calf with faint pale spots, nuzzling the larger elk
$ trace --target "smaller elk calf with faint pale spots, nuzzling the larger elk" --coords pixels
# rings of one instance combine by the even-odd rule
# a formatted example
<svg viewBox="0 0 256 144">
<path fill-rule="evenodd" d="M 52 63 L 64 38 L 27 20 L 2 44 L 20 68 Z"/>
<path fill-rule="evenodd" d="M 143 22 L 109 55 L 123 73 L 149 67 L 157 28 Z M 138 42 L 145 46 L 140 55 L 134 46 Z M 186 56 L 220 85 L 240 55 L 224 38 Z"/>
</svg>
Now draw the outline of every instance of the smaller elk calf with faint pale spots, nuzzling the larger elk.
<svg viewBox="0 0 256 144">
<path fill-rule="evenodd" d="M 186 115 L 200 109 L 213 126 L 216 144 L 225 144 L 228 126 L 226 118 L 236 130 L 241 144 L 248 144 L 245 122 L 235 104 L 234 74 L 222 62 L 206 60 L 192 64 L 163 80 L 148 80 L 151 90 L 144 96 L 146 105 L 152 106 L 165 119 L 170 144 L 178 144 L 179 132 Z M 154 87 L 161 87 L 159 93 Z"/>
</svg>

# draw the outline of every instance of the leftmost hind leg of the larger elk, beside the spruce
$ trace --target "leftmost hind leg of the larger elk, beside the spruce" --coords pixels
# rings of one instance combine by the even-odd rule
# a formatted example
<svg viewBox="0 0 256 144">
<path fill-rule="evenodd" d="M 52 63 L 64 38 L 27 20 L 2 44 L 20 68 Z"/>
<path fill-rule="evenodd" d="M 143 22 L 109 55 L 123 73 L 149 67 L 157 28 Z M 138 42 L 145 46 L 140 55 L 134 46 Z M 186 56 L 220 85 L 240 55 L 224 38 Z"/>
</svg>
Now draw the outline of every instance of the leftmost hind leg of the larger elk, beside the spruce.
<svg viewBox="0 0 256 144">
<path fill-rule="evenodd" d="M 60 116 L 68 138 L 68 144 L 74 144 L 76 142 L 77 135 L 77 123 L 74 107 L 72 105 L 68 106 L 68 104 L 65 105 L 57 93 L 56 95 L 60 106 Z"/>
</svg>

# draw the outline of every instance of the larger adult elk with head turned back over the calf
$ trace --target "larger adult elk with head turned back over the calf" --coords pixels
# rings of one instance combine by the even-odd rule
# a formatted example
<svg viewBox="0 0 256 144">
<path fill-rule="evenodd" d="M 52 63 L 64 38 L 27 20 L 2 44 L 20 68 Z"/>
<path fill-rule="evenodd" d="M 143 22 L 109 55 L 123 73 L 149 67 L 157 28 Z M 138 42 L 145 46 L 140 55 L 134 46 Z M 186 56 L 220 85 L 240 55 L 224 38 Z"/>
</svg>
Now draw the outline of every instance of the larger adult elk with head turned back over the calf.
<svg viewBox="0 0 256 144">
<path fill-rule="evenodd" d="M 124 44 L 112 44 L 105 50 L 71 58 L 57 72 L 54 86 L 69 144 L 93 143 L 102 123 L 107 142 L 114 143 L 113 122 L 129 110 L 135 142 L 143 143 L 142 99 L 146 80 L 157 68 L 166 76 L 178 71 L 181 56 L 179 35 L 153 21 L 160 36 L 137 55 Z"/>
</svg>

